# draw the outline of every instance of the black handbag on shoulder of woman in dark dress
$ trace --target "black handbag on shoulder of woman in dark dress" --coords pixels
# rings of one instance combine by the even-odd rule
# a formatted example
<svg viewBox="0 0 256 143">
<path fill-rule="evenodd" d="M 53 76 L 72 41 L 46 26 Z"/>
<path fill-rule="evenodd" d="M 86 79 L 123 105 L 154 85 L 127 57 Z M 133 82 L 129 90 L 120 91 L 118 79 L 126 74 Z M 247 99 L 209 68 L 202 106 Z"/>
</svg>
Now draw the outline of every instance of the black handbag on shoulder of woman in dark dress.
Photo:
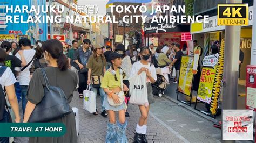
<svg viewBox="0 0 256 143">
<path fill-rule="evenodd" d="M 29 122 L 48 122 L 71 113 L 68 99 L 64 91 L 59 87 L 50 86 L 44 68 L 42 70 L 46 86 L 44 97 L 31 113 Z"/>
</svg>

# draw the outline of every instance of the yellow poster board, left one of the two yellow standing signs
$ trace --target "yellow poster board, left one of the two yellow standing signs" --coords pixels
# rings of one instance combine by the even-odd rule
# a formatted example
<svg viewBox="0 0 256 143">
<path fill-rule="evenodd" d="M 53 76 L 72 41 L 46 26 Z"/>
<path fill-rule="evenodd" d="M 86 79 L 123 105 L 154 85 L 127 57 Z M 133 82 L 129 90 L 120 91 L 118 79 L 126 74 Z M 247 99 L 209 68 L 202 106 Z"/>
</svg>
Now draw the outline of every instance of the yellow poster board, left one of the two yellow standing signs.
<svg viewBox="0 0 256 143">
<path fill-rule="evenodd" d="M 194 61 L 193 56 L 182 56 L 181 58 L 178 91 L 188 96 L 190 96 L 191 90 L 192 90 L 193 61 Z"/>
</svg>

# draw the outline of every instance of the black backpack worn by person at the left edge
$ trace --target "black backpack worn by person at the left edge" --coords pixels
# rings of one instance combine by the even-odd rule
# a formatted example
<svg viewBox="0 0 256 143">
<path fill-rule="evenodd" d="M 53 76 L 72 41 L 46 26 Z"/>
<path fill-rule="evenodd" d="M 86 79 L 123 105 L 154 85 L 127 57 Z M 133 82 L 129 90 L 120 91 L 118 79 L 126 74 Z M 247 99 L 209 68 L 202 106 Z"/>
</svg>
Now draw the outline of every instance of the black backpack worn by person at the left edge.
<svg viewBox="0 0 256 143">
<path fill-rule="evenodd" d="M 2 75 L 4 74 L 4 71 L 7 69 L 6 66 L 2 66 L 0 68 L 0 77 L 2 77 Z M 5 106 L 7 108 L 7 103 L 6 103 L 6 99 L 5 99 L 5 92 L 2 88 L 2 85 L 0 83 L 0 120 L 3 119 L 3 115 L 4 115 L 4 111 L 5 111 Z"/>
</svg>

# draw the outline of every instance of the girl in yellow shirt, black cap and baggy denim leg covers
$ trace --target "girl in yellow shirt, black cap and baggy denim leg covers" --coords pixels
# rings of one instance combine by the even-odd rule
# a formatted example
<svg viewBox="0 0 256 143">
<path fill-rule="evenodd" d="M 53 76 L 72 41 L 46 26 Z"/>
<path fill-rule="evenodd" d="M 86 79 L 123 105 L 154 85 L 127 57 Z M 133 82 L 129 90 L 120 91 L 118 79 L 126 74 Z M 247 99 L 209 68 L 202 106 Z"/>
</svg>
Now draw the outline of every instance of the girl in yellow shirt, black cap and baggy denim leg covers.
<svg viewBox="0 0 256 143">
<path fill-rule="evenodd" d="M 127 91 L 128 88 L 123 84 L 122 79 L 125 76 L 122 68 L 120 68 L 122 59 L 121 54 L 117 52 L 112 52 L 109 55 L 111 60 L 111 67 L 105 72 L 101 88 L 106 92 L 107 96 L 104 97 L 103 106 L 107 110 L 109 115 L 109 123 L 107 124 L 107 135 L 105 142 L 128 142 L 125 135 L 125 130 L 127 127 L 127 121 L 125 120 L 125 110 L 126 104 L 123 101 L 122 104 L 118 106 L 112 106 L 109 104 L 107 98 L 112 98 L 113 102 L 120 103 L 120 98 L 118 97 L 118 92 Z M 123 89 L 122 85 L 123 84 Z M 116 121 L 116 112 L 118 112 L 119 120 Z"/>
</svg>

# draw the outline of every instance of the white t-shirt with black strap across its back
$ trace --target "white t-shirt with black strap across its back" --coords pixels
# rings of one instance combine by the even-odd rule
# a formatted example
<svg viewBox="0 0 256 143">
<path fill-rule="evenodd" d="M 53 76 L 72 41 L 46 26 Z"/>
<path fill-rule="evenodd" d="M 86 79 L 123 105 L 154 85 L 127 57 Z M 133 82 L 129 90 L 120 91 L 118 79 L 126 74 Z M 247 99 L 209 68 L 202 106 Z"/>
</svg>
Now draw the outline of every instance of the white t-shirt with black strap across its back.
<svg viewBox="0 0 256 143">
<path fill-rule="evenodd" d="M 34 49 L 25 49 L 23 51 L 23 55 L 25 57 L 26 63 L 28 64 L 32 59 L 33 56 L 35 55 L 36 51 Z M 17 53 L 15 56 L 17 56 L 17 58 L 19 58 L 19 60 L 21 60 L 21 55 L 19 55 L 19 53 Z M 28 67 L 26 67 L 23 71 L 21 71 L 21 69 L 23 67 L 15 67 L 16 71 L 21 71 L 21 73 L 19 73 L 19 84 L 20 85 L 29 85 L 30 82 L 30 67 L 31 67 L 32 62 L 30 63 L 30 65 Z"/>
</svg>

